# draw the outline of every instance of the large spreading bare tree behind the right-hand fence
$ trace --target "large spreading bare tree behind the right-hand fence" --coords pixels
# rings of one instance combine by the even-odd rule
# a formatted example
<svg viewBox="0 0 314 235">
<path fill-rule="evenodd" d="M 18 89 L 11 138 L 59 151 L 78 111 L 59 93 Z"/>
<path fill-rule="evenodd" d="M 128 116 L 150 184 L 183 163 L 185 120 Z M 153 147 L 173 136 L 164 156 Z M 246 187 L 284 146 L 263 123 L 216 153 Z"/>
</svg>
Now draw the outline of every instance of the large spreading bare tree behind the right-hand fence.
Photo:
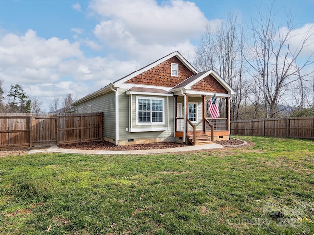
<svg viewBox="0 0 314 235">
<path fill-rule="evenodd" d="M 267 9 L 258 8 L 258 17 L 251 19 L 249 30 L 252 36 L 252 47 L 246 61 L 253 72 L 252 77 L 259 78 L 262 90 L 266 118 L 274 118 L 278 101 L 285 88 L 299 79 L 299 74 L 312 64 L 313 54 L 305 60 L 299 60 L 301 52 L 311 43 L 311 29 L 303 35 L 296 35 L 293 14 L 286 14 L 285 27 L 276 26 L 274 3 Z M 301 36 L 296 47 L 292 47 L 293 37 Z"/>
</svg>

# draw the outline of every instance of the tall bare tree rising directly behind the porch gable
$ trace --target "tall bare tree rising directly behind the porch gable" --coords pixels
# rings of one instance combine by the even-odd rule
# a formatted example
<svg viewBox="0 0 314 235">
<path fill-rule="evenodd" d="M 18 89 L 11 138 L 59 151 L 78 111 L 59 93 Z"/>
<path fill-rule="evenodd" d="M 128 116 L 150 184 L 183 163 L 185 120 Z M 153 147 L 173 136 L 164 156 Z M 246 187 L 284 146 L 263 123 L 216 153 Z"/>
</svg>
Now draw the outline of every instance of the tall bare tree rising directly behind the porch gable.
<svg viewBox="0 0 314 235">
<path fill-rule="evenodd" d="M 235 96 L 231 102 L 232 120 L 238 120 L 243 99 L 245 62 L 241 54 L 243 46 L 244 36 L 238 27 L 237 16 L 229 14 L 217 29 L 210 24 L 205 27 L 201 43 L 196 50 L 196 67 L 203 71 L 213 69 L 235 89 Z M 220 109 L 225 107 L 222 102 L 219 106 Z"/>
</svg>

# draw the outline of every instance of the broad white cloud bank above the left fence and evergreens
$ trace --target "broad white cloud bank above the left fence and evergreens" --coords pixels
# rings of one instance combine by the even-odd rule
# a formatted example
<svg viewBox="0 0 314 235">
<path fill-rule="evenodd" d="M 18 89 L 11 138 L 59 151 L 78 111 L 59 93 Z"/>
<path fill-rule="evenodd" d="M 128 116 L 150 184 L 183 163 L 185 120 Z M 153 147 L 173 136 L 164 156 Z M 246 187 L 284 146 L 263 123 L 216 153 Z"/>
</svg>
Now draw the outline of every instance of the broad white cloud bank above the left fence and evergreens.
<svg viewBox="0 0 314 235">
<path fill-rule="evenodd" d="M 70 43 L 56 37 L 38 37 L 33 30 L 28 30 L 21 36 L 13 33 L 4 35 L 0 43 L 0 77 L 4 80 L 6 90 L 9 90 L 10 85 L 19 83 L 28 95 L 40 98 L 46 106 L 48 100 L 53 100 L 58 95 L 65 96 L 71 91 L 69 87 L 64 84 L 56 86 L 64 76 L 60 72 L 60 66 L 68 60 L 83 61 L 79 47 L 79 43 Z M 48 86 L 47 82 L 52 85 Z M 75 87 L 76 83 L 71 83 Z M 80 93 L 85 93 L 87 86 L 78 83 Z M 79 91 L 75 92 L 79 94 Z"/>
</svg>

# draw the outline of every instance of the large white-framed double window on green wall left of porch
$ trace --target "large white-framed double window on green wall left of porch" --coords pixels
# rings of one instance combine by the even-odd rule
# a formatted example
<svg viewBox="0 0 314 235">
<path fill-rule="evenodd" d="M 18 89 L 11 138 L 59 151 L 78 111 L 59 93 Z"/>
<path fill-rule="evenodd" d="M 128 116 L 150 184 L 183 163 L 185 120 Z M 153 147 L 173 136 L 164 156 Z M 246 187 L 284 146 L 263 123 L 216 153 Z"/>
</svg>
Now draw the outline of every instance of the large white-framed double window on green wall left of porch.
<svg viewBox="0 0 314 235">
<path fill-rule="evenodd" d="M 164 124 L 164 98 L 136 97 L 136 124 Z"/>
</svg>

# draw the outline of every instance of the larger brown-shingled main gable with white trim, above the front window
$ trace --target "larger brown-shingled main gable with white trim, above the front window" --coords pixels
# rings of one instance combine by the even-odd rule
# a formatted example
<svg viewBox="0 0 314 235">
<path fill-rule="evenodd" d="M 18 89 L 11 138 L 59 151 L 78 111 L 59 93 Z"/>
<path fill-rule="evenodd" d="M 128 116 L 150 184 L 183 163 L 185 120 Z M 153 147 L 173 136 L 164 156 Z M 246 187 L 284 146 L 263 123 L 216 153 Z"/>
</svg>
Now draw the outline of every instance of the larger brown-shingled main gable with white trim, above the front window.
<svg viewBox="0 0 314 235">
<path fill-rule="evenodd" d="M 171 76 L 171 63 L 178 64 L 178 77 Z M 123 83 L 174 87 L 197 73 L 198 71 L 178 51 L 175 51 L 115 81 L 113 84 L 115 87 L 121 87 Z"/>
</svg>

